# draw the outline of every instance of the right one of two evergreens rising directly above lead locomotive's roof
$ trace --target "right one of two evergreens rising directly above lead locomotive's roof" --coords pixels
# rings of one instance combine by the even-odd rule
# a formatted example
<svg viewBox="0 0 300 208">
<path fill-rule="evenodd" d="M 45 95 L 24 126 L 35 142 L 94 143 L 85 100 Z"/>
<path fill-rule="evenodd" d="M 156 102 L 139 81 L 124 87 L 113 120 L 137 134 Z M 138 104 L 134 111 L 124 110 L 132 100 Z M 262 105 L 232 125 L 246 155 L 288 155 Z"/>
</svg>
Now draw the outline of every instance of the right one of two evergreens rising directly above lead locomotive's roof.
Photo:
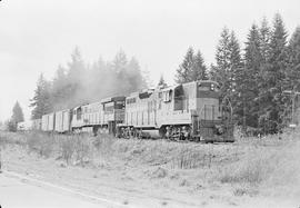
<svg viewBox="0 0 300 208">
<path fill-rule="evenodd" d="M 198 50 L 197 55 L 193 57 L 193 66 L 191 68 L 189 79 L 191 81 L 208 79 L 207 67 L 204 65 L 204 60 L 202 58 L 200 50 Z"/>
</svg>

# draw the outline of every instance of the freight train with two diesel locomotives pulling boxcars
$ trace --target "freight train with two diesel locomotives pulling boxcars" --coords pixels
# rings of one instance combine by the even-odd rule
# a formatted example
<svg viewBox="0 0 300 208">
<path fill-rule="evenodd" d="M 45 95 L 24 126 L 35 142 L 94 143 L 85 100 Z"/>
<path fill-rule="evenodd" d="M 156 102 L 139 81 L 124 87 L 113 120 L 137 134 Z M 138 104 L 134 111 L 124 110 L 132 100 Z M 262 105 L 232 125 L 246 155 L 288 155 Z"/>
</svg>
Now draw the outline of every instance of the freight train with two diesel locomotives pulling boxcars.
<svg viewBox="0 0 300 208">
<path fill-rule="evenodd" d="M 233 142 L 232 108 L 218 82 L 197 80 L 136 91 L 43 115 L 32 129 L 117 138 Z"/>
</svg>

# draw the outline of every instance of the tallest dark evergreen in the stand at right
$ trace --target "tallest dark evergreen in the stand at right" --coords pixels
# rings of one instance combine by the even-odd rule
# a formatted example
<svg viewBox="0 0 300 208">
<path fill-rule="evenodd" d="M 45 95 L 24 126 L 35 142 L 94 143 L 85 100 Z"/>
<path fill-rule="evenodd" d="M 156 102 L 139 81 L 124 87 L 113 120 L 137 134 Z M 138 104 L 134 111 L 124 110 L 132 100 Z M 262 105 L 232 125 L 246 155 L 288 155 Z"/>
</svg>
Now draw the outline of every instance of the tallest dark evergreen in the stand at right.
<svg viewBox="0 0 300 208">
<path fill-rule="evenodd" d="M 282 91 L 287 68 L 287 36 L 282 18 L 277 13 L 273 20 L 268 61 L 263 67 L 263 82 L 266 85 L 262 96 L 260 96 L 264 102 L 260 123 L 266 132 L 278 132 L 282 128 L 286 99 Z"/>
</svg>

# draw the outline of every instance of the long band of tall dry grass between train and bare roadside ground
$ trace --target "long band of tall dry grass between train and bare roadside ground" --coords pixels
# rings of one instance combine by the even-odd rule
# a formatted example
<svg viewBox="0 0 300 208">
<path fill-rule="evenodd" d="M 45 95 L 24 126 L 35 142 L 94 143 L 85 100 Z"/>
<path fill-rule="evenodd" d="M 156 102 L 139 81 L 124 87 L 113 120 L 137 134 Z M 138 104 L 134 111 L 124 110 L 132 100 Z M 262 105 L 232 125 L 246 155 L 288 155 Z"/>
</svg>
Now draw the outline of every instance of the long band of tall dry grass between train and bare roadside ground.
<svg viewBox="0 0 300 208">
<path fill-rule="evenodd" d="M 263 187 L 292 195 L 300 192 L 300 132 L 297 130 L 263 138 L 238 138 L 234 143 L 220 145 L 42 132 L 1 132 L 0 138 L 1 143 L 18 145 L 42 158 L 56 157 L 69 166 L 103 167 L 118 160 L 123 166 L 151 169 L 144 174 L 149 179 L 167 180 L 179 175 L 173 177 L 179 186 L 192 187 L 201 181 L 229 184 L 236 187 L 234 196 L 257 194 L 253 188 Z M 193 177 L 182 177 L 186 175 L 182 171 L 191 171 Z"/>
</svg>

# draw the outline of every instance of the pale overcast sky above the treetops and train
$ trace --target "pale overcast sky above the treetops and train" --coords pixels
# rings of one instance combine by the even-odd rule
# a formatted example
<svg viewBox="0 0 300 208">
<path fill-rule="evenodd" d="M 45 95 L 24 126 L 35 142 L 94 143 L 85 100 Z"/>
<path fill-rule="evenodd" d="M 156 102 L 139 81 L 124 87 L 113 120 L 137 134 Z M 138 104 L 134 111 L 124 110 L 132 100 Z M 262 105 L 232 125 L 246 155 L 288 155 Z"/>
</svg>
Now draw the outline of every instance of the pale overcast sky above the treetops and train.
<svg viewBox="0 0 300 208">
<path fill-rule="evenodd" d="M 169 83 L 189 46 L 213 62 L 224 26 L 244 42 L 253 22 L 280 12 L 289 33 L 300 24 L 299 0 L 2 0 L 0 1 L 0 120 L 19 100 L 30 117 L 39 73 L 48 79 L 78 46 L 84 60 L 122 49 L 156 83 Z"/>
</svg>

